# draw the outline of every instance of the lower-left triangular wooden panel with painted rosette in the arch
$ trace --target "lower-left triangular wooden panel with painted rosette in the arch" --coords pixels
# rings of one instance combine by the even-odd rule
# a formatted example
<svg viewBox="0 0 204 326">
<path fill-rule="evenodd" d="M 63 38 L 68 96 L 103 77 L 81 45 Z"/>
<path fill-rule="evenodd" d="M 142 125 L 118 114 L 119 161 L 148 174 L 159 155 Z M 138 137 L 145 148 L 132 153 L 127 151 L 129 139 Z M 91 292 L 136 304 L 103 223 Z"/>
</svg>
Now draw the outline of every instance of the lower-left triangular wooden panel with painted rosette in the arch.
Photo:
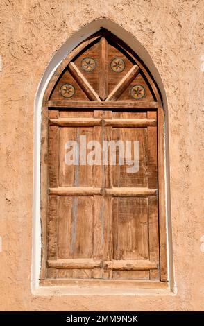
<svg viewBox="0 0 204 326">
<path fill-rule="evenodd" d="M 89 101 L 89 98 L 67 69 L 56 83 L 50 99 L 51 101 Z"/>
</svg>

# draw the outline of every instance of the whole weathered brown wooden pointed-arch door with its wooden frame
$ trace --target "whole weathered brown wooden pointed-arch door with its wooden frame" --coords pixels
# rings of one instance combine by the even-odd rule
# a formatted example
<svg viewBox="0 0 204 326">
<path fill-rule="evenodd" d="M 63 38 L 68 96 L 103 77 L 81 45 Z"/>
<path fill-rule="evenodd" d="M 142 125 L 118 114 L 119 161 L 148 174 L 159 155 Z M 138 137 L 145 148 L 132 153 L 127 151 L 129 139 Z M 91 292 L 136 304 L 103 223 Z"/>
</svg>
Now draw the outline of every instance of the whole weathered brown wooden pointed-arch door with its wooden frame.
<svg viewBox="0 0 204 326">
<path fill-rule="evenodd" d="M 67 55 L 44 95 L 43 284 L 167 281 L 163 126 L 153 79 L 117 37 Z"/>
</svg>

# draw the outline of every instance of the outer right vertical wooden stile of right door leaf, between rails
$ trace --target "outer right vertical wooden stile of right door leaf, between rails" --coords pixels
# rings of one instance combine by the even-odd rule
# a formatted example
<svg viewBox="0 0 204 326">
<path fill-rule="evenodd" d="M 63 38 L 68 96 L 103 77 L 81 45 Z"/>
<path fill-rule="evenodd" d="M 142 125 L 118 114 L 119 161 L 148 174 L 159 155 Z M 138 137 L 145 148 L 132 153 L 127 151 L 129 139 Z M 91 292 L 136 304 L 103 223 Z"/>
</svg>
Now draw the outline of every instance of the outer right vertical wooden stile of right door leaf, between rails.
<svg viewBox="0 0 204 326">
<path fill-rule="evenodd" d="M 147 112 L 148 119 L 157 119 L 156 111 Z M 148 188 L 158 188 L 158 139 L 157 128 L 148 127 Z M 149 259 L 159 264 L 159 234 L 158 234 L 158 199 L 148 198 L 148 233 L 149 233 Z M 157 270 L 150 271 L 150 279 L 158 280 L 160 273 Z"/>
</svg>

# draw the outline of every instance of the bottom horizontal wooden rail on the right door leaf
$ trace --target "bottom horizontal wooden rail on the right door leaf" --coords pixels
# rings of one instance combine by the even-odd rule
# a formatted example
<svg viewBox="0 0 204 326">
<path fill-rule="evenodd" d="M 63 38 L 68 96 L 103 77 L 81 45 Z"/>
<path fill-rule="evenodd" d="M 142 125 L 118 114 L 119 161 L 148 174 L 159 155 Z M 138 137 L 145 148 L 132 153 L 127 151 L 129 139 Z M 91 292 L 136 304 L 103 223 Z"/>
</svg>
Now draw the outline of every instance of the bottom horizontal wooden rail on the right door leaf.
<svg viewBox="0 0 204 326">
<path fill-rule="evenodd" d="M 104 261 L 103 268 L 114 271 L 148 271 L 158 269 L 158 263 L 149 260 L 113 260 Z"/>
</svg>

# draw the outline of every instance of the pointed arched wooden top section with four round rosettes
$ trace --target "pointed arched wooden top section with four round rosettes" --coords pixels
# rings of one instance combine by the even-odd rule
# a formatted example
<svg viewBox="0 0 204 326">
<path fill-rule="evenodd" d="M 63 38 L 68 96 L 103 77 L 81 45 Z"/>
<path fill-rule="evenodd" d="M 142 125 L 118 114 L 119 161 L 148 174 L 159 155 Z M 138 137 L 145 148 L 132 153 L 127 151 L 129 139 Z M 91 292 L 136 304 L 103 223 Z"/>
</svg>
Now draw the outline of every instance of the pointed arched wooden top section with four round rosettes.
<svg viewBox="0 0 204 326">
<path fill-rule="evenodd" d="M 117 37 L 101 31 L 74 50 L 60 67 L 49 100 L 71 102 L 157 102 L 158 91 L 137 55 Z M 77 51 L 78 50 L 78 51 Z M 159 100 L 160 101 L 160 100 Z"/>
</svg>

